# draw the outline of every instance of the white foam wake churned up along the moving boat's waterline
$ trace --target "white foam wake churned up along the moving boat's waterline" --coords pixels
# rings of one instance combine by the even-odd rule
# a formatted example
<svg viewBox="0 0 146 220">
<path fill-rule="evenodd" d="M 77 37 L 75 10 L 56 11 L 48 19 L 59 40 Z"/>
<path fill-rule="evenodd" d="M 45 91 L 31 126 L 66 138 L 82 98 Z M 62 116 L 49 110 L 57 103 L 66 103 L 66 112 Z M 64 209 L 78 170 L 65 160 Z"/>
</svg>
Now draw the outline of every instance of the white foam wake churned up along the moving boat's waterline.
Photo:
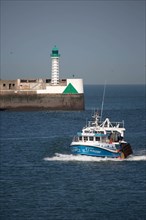
<svg viewBox="0 0 146 220">
<path fill-rule="evenodd" d="M 131 156 L 127 159 L 118 159 L 118 158 L 100 158 L 100 157 L 91 157 L 84 155 L 72 155 L 72 154 L 59 154 L 55 153 L 53 157 L 44 158 L 46 161 L 87 161 L 87 162 L 102 162 L 102 161 L 146 161 L 146 155 L 142 156 Z"/>
</svg>

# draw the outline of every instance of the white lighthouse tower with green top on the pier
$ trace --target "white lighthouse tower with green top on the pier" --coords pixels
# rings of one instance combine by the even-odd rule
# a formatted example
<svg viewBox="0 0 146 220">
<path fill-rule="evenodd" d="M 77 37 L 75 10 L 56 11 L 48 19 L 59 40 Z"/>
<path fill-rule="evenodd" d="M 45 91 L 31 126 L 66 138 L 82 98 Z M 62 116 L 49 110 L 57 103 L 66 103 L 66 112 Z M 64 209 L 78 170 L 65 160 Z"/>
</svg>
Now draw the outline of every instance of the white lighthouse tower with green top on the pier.
<svg viewBox="0 0 146 220">
<path fill-rule="evenodd" d="M 51 83 L 52 85 L 57 85 L 59 84 L 59 51 L 56 46 L 52 49 L 51 53 Z"/>
</svg>

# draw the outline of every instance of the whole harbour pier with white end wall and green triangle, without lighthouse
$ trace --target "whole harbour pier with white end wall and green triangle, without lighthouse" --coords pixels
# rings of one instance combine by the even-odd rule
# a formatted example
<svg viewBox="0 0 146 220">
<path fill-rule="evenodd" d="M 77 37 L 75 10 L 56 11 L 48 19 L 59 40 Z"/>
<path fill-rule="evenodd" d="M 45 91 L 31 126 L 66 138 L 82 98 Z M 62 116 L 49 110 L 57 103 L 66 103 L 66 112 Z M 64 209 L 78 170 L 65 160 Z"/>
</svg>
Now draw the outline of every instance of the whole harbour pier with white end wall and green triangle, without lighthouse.
<svg viewBox="0 0 146 220">
<path fill-rule="evenodd" d="M 0 110 L 84 110 L 83 80 L 0 80 Z"/>
</svg>

